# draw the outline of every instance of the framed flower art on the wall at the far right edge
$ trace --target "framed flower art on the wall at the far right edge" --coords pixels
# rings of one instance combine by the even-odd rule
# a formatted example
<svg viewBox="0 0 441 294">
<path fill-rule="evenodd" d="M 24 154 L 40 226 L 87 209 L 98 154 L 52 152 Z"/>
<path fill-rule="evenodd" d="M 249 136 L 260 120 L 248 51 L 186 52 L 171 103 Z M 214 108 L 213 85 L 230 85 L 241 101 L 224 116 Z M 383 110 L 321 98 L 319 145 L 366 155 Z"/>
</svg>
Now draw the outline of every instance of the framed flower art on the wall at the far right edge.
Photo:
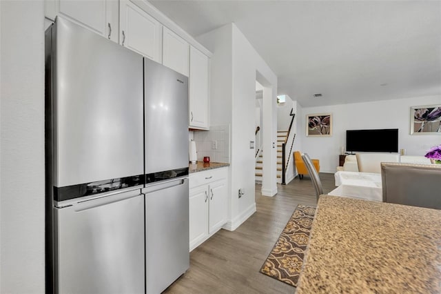
<svg viewBox="0 0 441 294">
<path fill-rule="evenodd" d="M 441 105 L 411 107 L 411 135 L 441 135 Z"/>
</svg>

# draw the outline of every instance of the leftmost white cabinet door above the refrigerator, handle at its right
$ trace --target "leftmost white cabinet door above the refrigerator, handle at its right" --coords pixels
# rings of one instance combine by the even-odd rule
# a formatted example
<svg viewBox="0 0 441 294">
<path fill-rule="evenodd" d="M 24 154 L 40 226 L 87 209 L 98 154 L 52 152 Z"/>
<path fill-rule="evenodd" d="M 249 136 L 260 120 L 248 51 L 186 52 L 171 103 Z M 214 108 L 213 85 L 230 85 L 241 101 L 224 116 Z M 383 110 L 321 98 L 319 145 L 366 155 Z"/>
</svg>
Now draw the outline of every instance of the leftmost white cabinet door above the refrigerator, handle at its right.
<svg viewBox="0 0 441 294">
<path fill-rule="evenodd" d="M 118 42 L 118 1 L 46 0 L 45 16 L 54 20 L 58 14 Z"/>
</svg>

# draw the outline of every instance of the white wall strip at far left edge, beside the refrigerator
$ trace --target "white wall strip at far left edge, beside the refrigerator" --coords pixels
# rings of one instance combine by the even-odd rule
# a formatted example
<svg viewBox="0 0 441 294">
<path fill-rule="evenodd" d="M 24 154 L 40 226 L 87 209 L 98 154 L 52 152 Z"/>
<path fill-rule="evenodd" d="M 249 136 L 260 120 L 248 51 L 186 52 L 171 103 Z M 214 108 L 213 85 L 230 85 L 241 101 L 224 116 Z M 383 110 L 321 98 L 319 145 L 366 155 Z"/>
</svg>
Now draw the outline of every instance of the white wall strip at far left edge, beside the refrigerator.
<svg viewBox="0 0 441 294">
<path fill-rule="evenodd" d="M 1 293 L 44 293 L 43 1 L 1 7 Z"/>
</svg>

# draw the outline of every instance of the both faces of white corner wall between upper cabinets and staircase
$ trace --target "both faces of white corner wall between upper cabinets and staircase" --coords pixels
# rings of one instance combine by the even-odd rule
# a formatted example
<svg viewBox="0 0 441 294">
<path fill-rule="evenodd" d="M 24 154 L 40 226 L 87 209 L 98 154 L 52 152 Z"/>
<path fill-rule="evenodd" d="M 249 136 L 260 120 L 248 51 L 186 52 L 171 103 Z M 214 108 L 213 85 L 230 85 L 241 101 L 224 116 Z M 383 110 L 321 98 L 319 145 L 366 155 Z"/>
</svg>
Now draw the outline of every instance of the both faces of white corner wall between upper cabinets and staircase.
<svg viewBox="0 0 441 294">
<path fill-rule="evenodd" d="M 269 139 L 269 146 L 271 141 L 275 141 L 276 138 L 277 77 L 233 23 L 208 32 L 197 39 L 213 52 L 211 64 L 211 123 L 231 124 L 229 222 L 225 228 L 234 230 L 256 210 L 254 193 L 255 149 L 249 148 L 249 141 L 255 139 L 256 72 L 259 72 L 260 84 L 263 80 L 267 81 L 266 85 L 263 84 L 264 87 L 267 87 L 268 84 L 273 87 L 271 92 L 266 94 L 274 98 L 272 99 L 274 105 L 269 105 L 269 107 L 264 105 L 270 111 L 274 111 L 274 119 L 271 118 L 272 121 L 270 121 L 268 127 L 268 132 L 273 134 Z M 264 96 L 265 91 L 268 91 L 267 88 L 264 89 Z M 268 103 L 270 104 L 271 101 Z M 266 128 L 267 125 L 265 124 Z M 267 148 L 267 150 L 269 152 L 265 155 L 274 156 L 275 161 L 276 149 L 274 148 L 274 155 L 271 148 Z M 274 165 L 273 186 L 276 190 L 275 173 Z M 269 189 L 274 190 L 274 187 Z M 245 195 L 240 199 L 238 199 L 239 188 L 245 190 Z"/>
</svg>

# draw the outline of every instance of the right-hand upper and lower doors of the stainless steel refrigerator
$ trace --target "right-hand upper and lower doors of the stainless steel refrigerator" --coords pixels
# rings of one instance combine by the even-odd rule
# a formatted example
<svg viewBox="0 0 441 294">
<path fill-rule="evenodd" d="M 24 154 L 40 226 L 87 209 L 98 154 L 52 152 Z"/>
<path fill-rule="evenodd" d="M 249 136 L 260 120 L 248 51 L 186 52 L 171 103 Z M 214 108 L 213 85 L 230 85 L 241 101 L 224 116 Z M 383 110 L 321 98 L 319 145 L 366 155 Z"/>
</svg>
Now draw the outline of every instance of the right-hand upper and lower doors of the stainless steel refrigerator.
<svg viewBox="0 0 441 294">
<path fill-rule="evenodd" d="M 188 79 L 144 59 L 146 293 L 189 268 Z"/>
</svg>

